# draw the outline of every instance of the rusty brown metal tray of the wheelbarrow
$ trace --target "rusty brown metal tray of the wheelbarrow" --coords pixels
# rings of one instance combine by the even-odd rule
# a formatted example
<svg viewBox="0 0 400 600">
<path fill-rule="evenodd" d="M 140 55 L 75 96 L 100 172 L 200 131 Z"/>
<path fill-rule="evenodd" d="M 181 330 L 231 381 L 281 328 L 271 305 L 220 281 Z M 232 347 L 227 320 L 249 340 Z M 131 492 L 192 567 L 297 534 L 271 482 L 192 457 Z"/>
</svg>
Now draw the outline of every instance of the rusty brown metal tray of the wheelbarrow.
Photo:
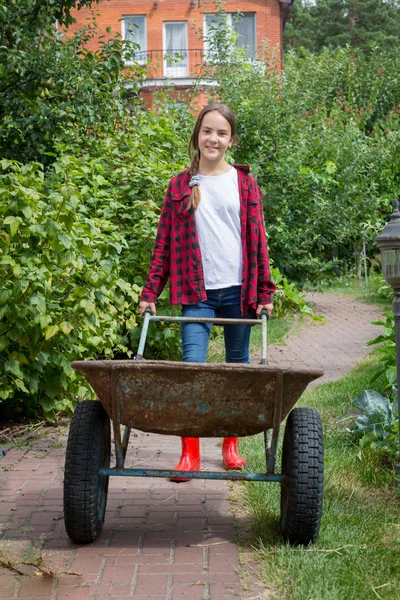
<svg viewBox="0 0 400 600">
<path fill-rule="evenodd" d="M 112 421 L 182 437 L 243 437 L 283 420 L 321 369 L 154 360 L 82 361 Z"/>
</svg>

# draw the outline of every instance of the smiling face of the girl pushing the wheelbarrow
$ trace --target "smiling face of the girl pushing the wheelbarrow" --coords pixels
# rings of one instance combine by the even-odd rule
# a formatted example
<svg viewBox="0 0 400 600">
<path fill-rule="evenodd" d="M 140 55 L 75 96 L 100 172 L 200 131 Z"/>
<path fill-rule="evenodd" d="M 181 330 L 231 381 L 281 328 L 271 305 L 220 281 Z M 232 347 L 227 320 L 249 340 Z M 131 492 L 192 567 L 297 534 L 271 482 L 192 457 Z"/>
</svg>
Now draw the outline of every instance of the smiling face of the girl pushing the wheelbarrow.
<svg viewBox="0 0 400 600">
<path fill-rule="evenodd" d="M 216 110 L 206 113 L 201 122 L 198 147 L 201 160 L 217 164 L 225 160 L 225 153 L 232 146 L 229 122 Z"/>
</svg>

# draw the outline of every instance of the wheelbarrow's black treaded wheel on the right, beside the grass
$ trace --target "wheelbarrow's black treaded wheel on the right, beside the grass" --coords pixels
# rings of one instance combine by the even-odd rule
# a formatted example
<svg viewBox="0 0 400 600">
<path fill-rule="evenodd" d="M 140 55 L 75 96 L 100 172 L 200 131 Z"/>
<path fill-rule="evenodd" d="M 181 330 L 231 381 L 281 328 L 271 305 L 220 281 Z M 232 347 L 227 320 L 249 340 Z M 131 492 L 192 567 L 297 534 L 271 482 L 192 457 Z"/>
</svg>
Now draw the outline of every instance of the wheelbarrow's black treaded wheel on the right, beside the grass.
<svg viewBox="0 0 400 600">
<path fill-rule="evenodd" d="M 324 488 L 324 441 L 319 414 L 295 408 L 285 427 L 282 449 L 281 533 L 291 544 L 318 537 Z"/>
</svg>

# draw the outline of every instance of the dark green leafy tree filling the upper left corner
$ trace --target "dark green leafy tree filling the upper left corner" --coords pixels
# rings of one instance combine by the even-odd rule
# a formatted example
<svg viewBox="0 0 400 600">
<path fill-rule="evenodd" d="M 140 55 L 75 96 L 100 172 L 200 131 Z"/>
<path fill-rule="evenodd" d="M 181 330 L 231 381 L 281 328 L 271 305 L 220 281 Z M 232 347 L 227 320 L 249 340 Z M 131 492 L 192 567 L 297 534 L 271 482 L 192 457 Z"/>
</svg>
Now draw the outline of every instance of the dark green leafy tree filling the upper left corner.
<svg viewBox="0 0 400 600">
<path fill-rule="evenodd" d="M 135 45 L 114 38 L 90 52 L 95 27 L 71 38 L 61 29 L 73 7 L 91 4 L 0 0 L 0 156 L 49 163 L 58 138 L 104 134 L 124 114 L 123 80 L 135 92 L 143 76 L 138 65 L 125 68 Z"/>
</svg>

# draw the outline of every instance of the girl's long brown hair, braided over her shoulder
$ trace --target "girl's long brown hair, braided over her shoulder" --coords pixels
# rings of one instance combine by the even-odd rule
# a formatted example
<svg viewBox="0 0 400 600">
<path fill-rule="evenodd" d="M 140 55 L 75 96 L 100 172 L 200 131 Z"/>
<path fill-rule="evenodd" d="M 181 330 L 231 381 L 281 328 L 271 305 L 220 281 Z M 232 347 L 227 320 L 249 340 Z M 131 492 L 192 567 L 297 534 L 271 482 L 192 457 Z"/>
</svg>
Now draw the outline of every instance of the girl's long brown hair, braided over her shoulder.
<svg viewBox="0 0 400 600">
<path fill-rule="evenodd" d="M 228 121 L 229 125 L 231 126 L 231 137 L 234 142 L 237 141 L 236 118 L 235 118 L 234 112 L 229 108 L 229 106 L 226 106 L 226 104 L 219 104 L 217 102 L 212 102 L 211 104 L 207 104 L 207 106 L 205 106 L 202 109 L 202 111 L 199 113 L 199 116 L 197 117 L 197 121 L 196 121 L 196 124 L 193 129 L 192 137 L 190 138 L 190 141 L 189 141 L 189 158 L 192 161 L 192 163 L 189 167 L 189 175 L 191 177 L 193 177 L 194 175 L 197 175 L 199 172 L 199 164 L 200 164 L 199 133 L 200 133 L 200 128 L 201 128 L 203 118 L 207 113 L 212 112 L 214 110 L 219 112 Z M 188 209 L 193 208 L 193 210 L 196 210 L 199 203 L 200 203 L 200 187 L 198 185 L 194 185 L 192 187 L 192 193 L 190 194 L 187 208 Z"/>
</svg>

